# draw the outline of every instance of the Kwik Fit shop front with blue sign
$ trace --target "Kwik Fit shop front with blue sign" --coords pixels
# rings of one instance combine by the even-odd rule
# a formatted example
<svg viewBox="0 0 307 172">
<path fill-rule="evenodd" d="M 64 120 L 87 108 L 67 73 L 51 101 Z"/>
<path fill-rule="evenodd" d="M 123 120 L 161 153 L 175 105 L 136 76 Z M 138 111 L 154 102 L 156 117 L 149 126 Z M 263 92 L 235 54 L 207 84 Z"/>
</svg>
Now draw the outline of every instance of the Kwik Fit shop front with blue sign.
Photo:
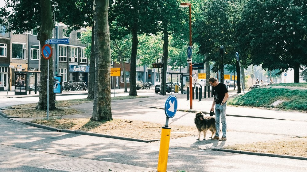
<svg viewBox="0 0 307 172">
<path fill-rule="evenodd" d="M 69 82 L 85 82 L 87 85 L 89 71 L 87 65 L 69 65 Z"/>
</svg>

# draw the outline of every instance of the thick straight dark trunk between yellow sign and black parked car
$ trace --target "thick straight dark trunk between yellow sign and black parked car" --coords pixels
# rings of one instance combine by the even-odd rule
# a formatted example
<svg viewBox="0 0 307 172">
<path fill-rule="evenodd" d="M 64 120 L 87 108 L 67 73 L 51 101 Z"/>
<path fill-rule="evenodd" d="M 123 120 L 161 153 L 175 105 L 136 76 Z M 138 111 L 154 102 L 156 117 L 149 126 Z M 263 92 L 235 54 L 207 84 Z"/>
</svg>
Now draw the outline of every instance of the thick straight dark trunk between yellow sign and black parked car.
<svg viewBox="0 0 307 172">
<path fill-rule="evenodd" d="M 136 56 L 138 54 L 138 24 L 132 28 L 132 49 L 130 58 L 130 90 L 129 95 L 137 96 L 136 92 Z"/>
</svg>

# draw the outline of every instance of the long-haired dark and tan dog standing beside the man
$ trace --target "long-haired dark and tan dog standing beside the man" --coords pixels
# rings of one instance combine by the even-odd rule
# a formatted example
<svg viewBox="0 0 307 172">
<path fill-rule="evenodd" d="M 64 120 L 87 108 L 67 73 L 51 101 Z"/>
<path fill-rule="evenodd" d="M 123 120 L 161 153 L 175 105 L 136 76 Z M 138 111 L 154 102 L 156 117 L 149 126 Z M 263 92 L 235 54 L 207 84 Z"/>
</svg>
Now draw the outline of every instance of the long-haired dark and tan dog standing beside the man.
<svg viewBox="0 0 307 172">
<path fill-rule="evenodd" d="M 203 131 L 204 133 L 204 140 L 206 140 L 206 133 L 207 130 L 210 130 L 212 135 L 210 138 L 212 138 L 216 132 L 215 128 L 215 118 L 214 117 L 204 117 L 203 113 L 201 112 L 195 112 L 196 117 L 194 119 L 194 123 L 196 125 L 196 128 L 198 129 L 198 139 L 200 138 L 200 132 Z"/>
</svg>

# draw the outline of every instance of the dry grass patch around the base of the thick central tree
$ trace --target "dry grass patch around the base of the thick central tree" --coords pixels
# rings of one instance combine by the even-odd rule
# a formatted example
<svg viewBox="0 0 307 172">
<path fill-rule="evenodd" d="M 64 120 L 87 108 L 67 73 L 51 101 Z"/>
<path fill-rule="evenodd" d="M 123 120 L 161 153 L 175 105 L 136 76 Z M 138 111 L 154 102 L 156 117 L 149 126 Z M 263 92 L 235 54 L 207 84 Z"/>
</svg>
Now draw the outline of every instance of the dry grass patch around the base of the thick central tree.
<svg viewBox="0 0 307 172">
<path fill-rule="evenodd" d="M 108 122 L 92 122 L 89 118 L 53 118 L 48 121 L 34 120 L 32 122 L 49 125 L 58 129 L 81 130 L 145 140 L 160 139 L 162 126 L 162 124 L 157 123 L 122 119 L 113 119 Z M 171 139 L 195 136 L 198 133 L 196 127 L 172 125 L 171 128 Z"/>
</svg>

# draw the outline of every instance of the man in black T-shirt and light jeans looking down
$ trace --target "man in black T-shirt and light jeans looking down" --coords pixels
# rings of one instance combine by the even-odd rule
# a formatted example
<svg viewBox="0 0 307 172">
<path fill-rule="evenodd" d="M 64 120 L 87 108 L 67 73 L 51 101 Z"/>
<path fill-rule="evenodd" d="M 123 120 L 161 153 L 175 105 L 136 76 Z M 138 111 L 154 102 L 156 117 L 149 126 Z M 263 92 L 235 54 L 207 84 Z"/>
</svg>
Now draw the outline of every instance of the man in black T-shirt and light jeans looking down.
<svg viewBox="0 0 307 172">
<path fill-rule="evenodd" d="M 226 101 L 228 98 L 228 90 L 226 85 L 219 82 L 215 77 L 209 78 L 209 83 L 213 86 L 213 95 L 214 100 L 212 103 L 212 107 L 210 111 L 214 111 L 215 105 L 215 127 L 216 127 L 216 134 L 211 140 L 220 140 L 226 141 Z M 223 136 L 220 139 L 220 122 L 222 122 L 222 132 Z"/>
</svg>

